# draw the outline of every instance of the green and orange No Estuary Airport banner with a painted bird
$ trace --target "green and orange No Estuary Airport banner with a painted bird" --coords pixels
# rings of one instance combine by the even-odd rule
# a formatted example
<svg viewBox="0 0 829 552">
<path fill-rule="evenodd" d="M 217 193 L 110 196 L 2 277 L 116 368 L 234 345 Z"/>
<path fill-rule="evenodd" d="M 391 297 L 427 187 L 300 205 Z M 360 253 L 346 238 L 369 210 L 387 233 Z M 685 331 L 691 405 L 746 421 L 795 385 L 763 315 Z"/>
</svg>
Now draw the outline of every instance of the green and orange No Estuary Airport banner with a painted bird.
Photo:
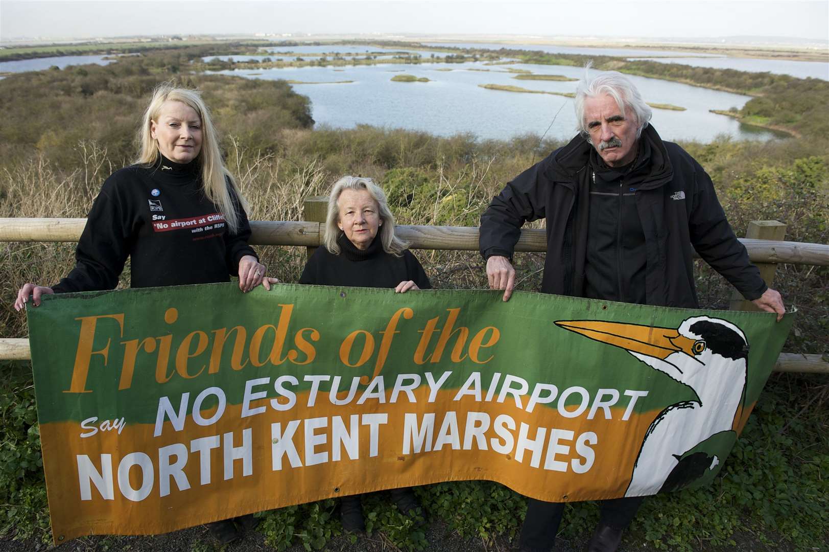
<svg viewBox="0 0 829 552">
<path fill-rule="evenodd" d="M 792 319 L 495 291 L 46 296 L 28 320 L 53 535 L 438 481 L 545 501 L 705 485 Z"/>
</svg>

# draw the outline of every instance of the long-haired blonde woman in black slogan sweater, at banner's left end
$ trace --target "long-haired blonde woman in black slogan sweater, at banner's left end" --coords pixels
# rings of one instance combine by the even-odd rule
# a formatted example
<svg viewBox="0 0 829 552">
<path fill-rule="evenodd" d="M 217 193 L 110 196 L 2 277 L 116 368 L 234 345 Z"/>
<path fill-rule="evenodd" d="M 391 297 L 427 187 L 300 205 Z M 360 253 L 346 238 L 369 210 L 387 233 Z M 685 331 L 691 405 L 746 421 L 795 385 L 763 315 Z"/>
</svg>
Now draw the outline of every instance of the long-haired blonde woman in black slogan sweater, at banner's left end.
<svg viewBox="0 0 829 552">
<path fill-rule="evenodd" d="M 241 291 L 262 283 L 265 267 L 248 246 L 245 198 L 222 164 L 201 94 L 159 85 L 138 138 L 136 163 L 107 178 L 95 198 L 75 268 L 55 286 L 22 286 L 17 310 L 30 296 L 38 306 L 51 293 L 113 289 L 127 257 L 132 287 L 213 283 L 230 276 L 239 276 Z M 264 286 L 269 289 L 271 281 Z M 239 528 L 253 525 L 248 515 L 208 527 L 227 543 L 240 536 Z"/>
</svg>

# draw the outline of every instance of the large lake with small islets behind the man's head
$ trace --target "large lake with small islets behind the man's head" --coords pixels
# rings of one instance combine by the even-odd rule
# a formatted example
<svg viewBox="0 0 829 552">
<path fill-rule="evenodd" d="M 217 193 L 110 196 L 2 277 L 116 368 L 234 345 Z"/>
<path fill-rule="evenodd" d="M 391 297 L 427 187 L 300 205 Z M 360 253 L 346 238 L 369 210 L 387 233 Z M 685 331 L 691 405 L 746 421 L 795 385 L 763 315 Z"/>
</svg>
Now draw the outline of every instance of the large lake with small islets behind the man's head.
<svg viewBox="0 0 829 552">
<path fill-rule="evenodd" d="M 572 137 L 575 115 L 570 98 L 485 90 L 478 85 L 514 85 L 530 90 L 572 92 L 576 83 L 520 81 L 512 78 L 515 75 L 508 73 L 507 67 L 573 78 L 579 78 L 583 71 L 569 66 L 484 66 L 482 62 L 470 62 L 345 66 L 337 67 L 337 71 L 333 67 L 314 66 L 219 72 L 266 80 L 354 81 L 349 84 L 293 85 L 294 90 L 311 100 L 317 125 L 353 128 L 367 124 L 424 130 L 441 136 L 472 133 L 482 139 L 510 139 L 528 132 L 544 134 L 555 117 L 547 136 Z M 438 71 L 447 68 L 452 71 Z M 475 69 L 488 71 L 471 71 Z M 431 82 L 392 82 L 391 77 L 400 72 L 425 76 Z M 708 111 L 742 107 L 749 96 L 637 76 L 631 79 L 642 90 L 645 100 L 686 108 L 686 111 L 653 110 L 652 124 L 665 139 L 710 142 L 718 134 L 730 134 L 735 139 L 771 139 L 775 136 L 767 130 L 740 125 L 730 117 Z"/>
</svg>

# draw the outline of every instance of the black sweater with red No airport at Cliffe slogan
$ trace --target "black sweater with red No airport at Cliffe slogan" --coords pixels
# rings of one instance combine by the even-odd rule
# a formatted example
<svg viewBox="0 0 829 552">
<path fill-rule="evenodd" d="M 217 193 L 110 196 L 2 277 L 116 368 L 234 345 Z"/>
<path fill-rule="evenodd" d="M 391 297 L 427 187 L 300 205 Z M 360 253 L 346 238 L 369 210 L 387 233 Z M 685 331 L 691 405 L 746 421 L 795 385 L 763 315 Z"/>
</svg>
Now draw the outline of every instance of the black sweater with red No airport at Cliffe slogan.
<svg viewBox="0 0 829 552">
<path fill-rule="evenodd" d="M 231 234 L 220 209 L 205 197 L 197 161 L 162 157 L 152 167 L 120 169 L 95 198 L 75 268 L 52 289 L 113 289 L 128 256 L 132 287 L 229 281 L 242 256 L 256 255 L 247 243 L 247 216 L 242 209 L 238 215 L 239 232 Z"/>
</svg>

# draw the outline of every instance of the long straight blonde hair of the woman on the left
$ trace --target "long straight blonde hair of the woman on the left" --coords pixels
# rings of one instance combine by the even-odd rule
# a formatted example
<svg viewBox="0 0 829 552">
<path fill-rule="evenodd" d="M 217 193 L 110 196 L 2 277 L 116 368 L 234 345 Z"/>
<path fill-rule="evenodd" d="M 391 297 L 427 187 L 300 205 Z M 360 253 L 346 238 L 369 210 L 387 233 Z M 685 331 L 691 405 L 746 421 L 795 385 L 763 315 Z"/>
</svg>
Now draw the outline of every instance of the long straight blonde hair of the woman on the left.
<svg viewBox="0 0 829 552">
<path fill-rule="evenodd" d="M 219 137 L 216 134 L 216 128 L 213 126 L 210 111 L 207 109 L 204 100 L 201 99 L 199 90 L 180 88 L 171 82 L 162 82 L 162 84 L 156 86 L 153 90 L 153 99 L 150 100 L 147 110 L 144 111 L 138 138 L 141 140 L 141 151 L 135 162 L 149 166 L 158 162 L 161 151 L 159 151 L 158 141 L 153 138 L 150 129 L 153 120 L 158 119 L 162 105 L 168 100 L 180 101 L 182 104 L 189 105 L 193 110 L 196 110 L 196 114 L 201 120 L 201 151 L 191 163 L 201 165 L 201 186 L 204 189 L 205 196 L 211 202 L 216 203 L 222 214 L 225 215 L 225 222 L 230 232 L 236 232 L 239 229 L 237 209 L 246 210 L 248 203 L 242 196 L 236 184 L 236 179 L 225 168 L 225 164 L 221 162 Z M 230 188 L 233 189 L 235 197 L 239 201 L 238 207 L 234 205 Z"/>
</svg>

